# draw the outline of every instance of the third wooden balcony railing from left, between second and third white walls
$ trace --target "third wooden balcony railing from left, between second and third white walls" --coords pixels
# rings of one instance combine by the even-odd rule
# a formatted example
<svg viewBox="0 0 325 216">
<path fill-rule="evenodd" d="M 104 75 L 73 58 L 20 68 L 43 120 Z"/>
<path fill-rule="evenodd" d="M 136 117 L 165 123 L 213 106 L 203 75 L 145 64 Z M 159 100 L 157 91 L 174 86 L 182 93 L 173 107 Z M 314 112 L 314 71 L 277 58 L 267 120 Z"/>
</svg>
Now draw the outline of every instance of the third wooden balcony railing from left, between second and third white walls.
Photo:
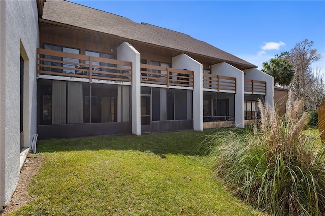
<svg viewBox="0 0 325 216">
<path fill-rule="evenodd" d="M 203 73 L 203 88 L 236 93 L 236 78 Z"/>
</svg>

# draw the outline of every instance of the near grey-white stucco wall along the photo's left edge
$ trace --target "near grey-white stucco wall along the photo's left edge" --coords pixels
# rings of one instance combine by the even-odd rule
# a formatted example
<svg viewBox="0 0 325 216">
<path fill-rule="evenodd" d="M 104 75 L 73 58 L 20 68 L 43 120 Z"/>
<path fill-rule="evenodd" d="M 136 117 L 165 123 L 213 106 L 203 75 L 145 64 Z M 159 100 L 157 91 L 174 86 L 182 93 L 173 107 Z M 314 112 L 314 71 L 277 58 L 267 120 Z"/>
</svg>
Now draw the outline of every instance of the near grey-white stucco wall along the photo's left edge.
<svg viewBox="0 0 325 216">
<path fill-rule="evenodd" d="M 24 59 L 24 148 L 36 134 L 36 1 L 0 1 L 0 208 L 20 174 L 20 55 Z"/>
</svg>

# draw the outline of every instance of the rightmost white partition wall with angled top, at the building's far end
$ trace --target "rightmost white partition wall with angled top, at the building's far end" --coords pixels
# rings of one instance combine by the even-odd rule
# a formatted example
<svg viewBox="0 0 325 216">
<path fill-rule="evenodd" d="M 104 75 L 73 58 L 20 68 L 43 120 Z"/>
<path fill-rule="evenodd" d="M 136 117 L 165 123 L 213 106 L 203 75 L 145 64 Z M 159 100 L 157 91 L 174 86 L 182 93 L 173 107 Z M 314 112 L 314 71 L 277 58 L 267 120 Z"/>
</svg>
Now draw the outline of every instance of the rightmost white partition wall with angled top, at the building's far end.
<svg viewBox="0 0 325 216">
<path fill-rule="evenodd" d="M 271 107 L 274 105 L 274 78 L 268 74 L 263 73 L 258 69 L 243 70 L 245 73 L 245 79 L 266 81 L 266 95 L 265 102 Z"/>
</svg>

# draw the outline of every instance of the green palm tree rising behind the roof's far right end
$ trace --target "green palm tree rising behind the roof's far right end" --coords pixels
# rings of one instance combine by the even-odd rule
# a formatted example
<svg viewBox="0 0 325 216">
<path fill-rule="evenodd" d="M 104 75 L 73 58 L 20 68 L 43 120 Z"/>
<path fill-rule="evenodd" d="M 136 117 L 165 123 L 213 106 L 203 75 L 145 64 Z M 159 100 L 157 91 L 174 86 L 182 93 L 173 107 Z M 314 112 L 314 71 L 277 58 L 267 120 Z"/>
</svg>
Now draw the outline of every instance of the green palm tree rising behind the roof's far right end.
<svg viewBox="0 0 325 216">
<path fill-rule="evenodd" d="M 261 71 L 274 77 L 274 83 L 287 86 L 294 78 L 293 64 L 286 58 L 272 58 L 269 63 L 263 62 Z"/>
</svg>

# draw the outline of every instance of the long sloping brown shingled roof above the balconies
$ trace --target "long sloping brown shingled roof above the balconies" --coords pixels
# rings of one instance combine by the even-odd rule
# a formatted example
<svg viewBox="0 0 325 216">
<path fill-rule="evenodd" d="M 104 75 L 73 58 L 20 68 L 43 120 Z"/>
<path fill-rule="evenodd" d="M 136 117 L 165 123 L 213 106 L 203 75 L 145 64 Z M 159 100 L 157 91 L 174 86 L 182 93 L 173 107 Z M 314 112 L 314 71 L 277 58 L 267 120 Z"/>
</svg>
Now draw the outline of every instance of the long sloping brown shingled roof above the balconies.
<svg viewBox="0 0 325 216">
<path fill-rule="evenodd" d="M 42 19 L 172 48 L 185 53 L 212 57 L 225 62 L 245 65 L 248 68 L 257 68 L 243 59 L 187 34 L 147 23 L 136 23 L 119 15 L 69 1 L 47 0 L 44 4 Z"/>
</svg>

